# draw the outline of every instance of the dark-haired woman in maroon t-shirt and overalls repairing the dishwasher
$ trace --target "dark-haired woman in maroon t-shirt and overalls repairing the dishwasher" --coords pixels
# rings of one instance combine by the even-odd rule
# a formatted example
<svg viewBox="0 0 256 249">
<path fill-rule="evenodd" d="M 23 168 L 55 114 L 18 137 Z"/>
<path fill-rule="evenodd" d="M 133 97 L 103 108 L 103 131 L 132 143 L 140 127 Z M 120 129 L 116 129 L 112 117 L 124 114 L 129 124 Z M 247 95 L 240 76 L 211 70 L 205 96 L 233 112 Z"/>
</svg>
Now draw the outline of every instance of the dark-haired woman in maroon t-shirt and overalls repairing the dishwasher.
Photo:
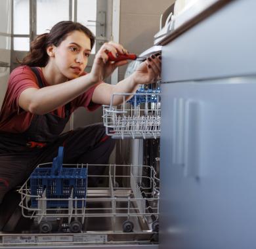
<svg viewBox="0 0 256 249">
<path fill-rule="evenodd" d="M 65 145 L 64 163 L 106 164 L 114 140 L 101 124 L 61 134 L 71 113 L 79 106 L 90 111 L 110 104 L 114 92 L 131 92 L 160 75 L 160 56 L 152 56 L 117 85 L 102 81 L 126 60 L 109 62 L 127 54 L 117 43 L 104 43 L 85 74 L 95 43 L 93 33 L 76 22 L 59 22 L 32 42 L 22 66 L 14 69 L 0 113 L 0 203 L 7 191 L 23 183 L 39 163 L 51 162 L 58 146 Z M 122 98 L 115 100 L 121 104 Z M 102 174 L 93 168 L 89 174 Z M 96 178 L 91 179 L 96 185 Z"/>
</svg>

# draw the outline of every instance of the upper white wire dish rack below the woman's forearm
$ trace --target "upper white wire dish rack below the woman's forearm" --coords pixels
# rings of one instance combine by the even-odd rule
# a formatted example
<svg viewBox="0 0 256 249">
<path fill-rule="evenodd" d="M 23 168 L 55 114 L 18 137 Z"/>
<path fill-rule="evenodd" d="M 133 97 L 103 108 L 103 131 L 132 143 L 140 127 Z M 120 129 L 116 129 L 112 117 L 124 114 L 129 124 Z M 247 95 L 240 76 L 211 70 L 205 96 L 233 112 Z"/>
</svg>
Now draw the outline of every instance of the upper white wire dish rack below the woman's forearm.
<svg viewBox="0 0 256 249">
<path fill-rule="evenodd" d="M 160 81 L 141 86 L 127 101 L 130 93 L 112 95 L 110 105 L 103 107 L 106 134 L 112 138 L 159 138 L 161 123 Z M 121 105 L 113 105 L 114 98 L 121 96 Z"/>
</svg>

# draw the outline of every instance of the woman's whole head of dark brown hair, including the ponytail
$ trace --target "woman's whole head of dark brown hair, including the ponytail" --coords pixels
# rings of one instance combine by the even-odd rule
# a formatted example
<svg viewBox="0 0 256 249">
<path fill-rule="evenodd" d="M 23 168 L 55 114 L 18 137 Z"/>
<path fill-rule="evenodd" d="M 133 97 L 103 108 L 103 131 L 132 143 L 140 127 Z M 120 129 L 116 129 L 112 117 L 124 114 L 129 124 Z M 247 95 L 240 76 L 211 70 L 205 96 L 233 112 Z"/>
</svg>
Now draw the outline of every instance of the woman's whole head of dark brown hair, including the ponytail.
<svg viewBox="0 0 256 249">
<path fill-rule="evenodd" d="M 95 44 L 95 36 L 79 22 L 62 21 L 53 26 L 50 33 L 38 35 L 30 45 L 30 52 L 20 64 L 28 66 L 45 67 L 49 61 L 47 47 L 54 45 L 58 47 L 72 31 L 82 31 L 91 41 L 91 48 Z"/>
</svg>

